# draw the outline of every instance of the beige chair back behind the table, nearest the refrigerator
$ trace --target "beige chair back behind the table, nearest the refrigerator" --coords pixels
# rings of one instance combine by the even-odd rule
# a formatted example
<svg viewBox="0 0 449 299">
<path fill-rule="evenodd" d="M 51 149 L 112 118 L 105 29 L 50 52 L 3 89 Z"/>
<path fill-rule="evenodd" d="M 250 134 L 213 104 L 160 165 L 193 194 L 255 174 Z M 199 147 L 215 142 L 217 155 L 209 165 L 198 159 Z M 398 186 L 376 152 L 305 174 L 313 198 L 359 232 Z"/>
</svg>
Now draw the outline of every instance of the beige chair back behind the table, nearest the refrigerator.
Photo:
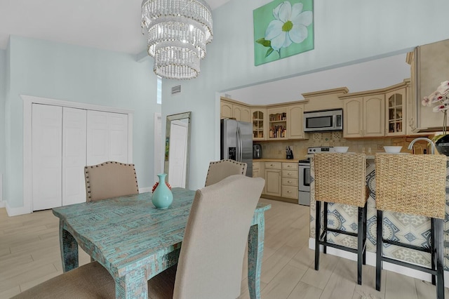
<svg viewBox="0 0 449 299">
<path fill-rule="evenodd" d="M 206 176 L 206 187 L 213 185 L 229 175 L 246 175 L 246 163 L 225 159 L 209 163 L 208 175 Z"/>
</svg>

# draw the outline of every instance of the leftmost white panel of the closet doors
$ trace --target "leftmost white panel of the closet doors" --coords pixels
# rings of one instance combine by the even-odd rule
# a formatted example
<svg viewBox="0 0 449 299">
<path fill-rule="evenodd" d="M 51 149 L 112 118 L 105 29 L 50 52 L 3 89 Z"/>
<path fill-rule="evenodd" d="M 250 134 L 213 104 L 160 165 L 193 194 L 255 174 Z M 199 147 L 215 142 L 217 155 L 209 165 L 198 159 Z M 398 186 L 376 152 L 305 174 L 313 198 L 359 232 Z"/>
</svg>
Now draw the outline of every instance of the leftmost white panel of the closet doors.
<svg viewBox="0 0 449 299">
<path fill-rule="evenodd" d="M 32 105 L 33 211 L 61 206 L 62 107 Z"/>
</svg>

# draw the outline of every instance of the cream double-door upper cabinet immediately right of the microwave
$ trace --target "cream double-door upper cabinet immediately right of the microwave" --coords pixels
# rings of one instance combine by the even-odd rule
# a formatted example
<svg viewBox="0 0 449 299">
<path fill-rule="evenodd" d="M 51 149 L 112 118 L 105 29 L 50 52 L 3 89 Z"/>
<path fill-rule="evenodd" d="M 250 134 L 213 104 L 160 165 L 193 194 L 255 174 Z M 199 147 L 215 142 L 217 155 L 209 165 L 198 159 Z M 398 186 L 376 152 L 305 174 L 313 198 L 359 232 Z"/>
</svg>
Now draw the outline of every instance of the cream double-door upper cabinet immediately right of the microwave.
<svg viewBox="0 0 449 299">
<path fill-rule="evenodd" d="M 384 93 L 348 95 L 340 97 L 344 101 L 343 138 L 384 136 Z"/>
</svg>

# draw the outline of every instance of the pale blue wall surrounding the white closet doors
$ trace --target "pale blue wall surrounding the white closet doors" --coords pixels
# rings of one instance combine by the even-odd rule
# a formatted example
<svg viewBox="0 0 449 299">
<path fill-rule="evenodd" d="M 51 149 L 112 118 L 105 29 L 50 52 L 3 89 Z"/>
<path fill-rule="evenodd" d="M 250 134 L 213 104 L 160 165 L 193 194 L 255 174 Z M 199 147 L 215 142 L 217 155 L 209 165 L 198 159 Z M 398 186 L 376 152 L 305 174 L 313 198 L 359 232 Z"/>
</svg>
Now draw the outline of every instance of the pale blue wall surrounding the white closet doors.
<svg viewBox="0 0 449 299">
<path fill-rule="evenodd" d="M 11 36 L 6 97 L 6 206 L 23 203 L 23 105 L 20 94 L 134 110 L 133 163 L 139 187 L 154 184 L 156 76 L 152 60 Z"/>
</svg>

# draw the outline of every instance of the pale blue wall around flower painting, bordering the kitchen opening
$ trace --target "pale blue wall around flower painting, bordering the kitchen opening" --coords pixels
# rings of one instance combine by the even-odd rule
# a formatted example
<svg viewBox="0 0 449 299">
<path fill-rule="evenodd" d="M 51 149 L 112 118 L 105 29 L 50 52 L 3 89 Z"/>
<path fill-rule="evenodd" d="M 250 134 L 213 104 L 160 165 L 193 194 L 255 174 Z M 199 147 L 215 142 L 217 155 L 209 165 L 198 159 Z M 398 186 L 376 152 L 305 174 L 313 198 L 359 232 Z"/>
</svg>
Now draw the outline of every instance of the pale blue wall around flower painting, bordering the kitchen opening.
<svg viewBox="0 0 449 299">
<path fill-rule="evenodd" d="M 266 3 L 232 0 L 213 11 L 214 37 L 199 77 L 163 81 L 163 117 L 192 111 L 191 188 L 202 187 L 209 161 L 220 159 L 221 92 L 449 39 L 447 20 L 435 18 L 436 8 L 449 11 L 449 1 L 314 1 L 314 50 L 255 67 L 253 10 Z M 177 84 L 182 93 L 171 96 Z"/>
</svg>

